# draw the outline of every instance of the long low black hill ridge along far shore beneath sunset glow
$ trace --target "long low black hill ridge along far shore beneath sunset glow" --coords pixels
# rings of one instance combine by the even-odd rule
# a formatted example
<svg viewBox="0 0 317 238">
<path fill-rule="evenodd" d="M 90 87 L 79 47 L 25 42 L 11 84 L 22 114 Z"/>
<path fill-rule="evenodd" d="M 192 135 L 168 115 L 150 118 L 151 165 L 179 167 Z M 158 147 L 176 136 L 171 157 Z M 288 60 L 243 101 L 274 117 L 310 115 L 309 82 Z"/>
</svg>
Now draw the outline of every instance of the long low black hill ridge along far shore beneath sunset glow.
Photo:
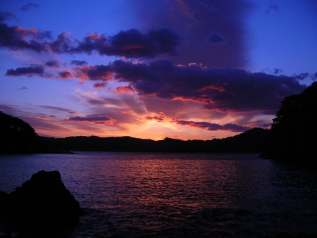
<svg viewBox="0 0 317 238">
<path fill-rule="evenodd" d="M 42 137 L 49 149 L 61 151 L 126 151 L 126 152 L 243 152 L 266 151 L 268 130 L 254 128 L 235 137 L 213 140 L 166 138 L 161 141 L 132 137 Z"/>
</svg>

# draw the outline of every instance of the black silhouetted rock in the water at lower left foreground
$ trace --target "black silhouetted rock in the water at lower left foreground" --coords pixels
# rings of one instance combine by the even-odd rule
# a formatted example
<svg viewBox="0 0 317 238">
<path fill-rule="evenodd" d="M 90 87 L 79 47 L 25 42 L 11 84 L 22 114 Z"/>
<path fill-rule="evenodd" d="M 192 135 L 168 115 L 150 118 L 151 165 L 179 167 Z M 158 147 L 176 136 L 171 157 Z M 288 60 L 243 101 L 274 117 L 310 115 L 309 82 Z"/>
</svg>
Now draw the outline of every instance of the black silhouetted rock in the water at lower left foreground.
<svg viewBox="0 0 317 238">
<path fill-rule="evenodd" d="M 80 204 L 61 181 L 58 171 L 44 170 L 11 194 L 0 192 L 1 219 L 11 229 L 32 237 L 58 236 L 77 223 Z"/>
</svg>

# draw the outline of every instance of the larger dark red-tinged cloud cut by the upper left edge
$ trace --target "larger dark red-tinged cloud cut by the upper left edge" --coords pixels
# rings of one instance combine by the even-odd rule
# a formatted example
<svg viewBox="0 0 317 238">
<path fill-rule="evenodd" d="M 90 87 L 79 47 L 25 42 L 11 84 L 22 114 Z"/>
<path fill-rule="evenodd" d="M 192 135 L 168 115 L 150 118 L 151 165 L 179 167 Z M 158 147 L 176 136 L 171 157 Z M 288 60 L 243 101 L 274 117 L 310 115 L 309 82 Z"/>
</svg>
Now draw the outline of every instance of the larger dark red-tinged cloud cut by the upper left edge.
<svg viewBox="0 0 317 238">
<path fill-rule="evenodd" d="M 23 29 L 20 26 L 8 27 L 0 24 L 0 48 L 17 51 L 19 49 L 30 49 L 32 51 L 47 51 L 46 42 L 42 39 L 51 37 L 51 32 L 42 32 L 32 28 L 31 30 Z"/>
</svg>

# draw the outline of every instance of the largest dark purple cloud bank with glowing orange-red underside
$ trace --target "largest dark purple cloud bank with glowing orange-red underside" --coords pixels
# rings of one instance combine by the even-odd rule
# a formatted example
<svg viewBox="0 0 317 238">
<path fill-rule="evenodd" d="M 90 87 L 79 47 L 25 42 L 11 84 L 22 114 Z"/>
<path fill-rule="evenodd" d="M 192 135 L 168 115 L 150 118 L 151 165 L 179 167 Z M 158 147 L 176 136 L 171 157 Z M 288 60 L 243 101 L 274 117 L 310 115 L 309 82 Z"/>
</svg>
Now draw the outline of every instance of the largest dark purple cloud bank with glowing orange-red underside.
<svg viewBox="0 0 317 238">
<path fill-rule="evenodd" d="M 243 69 L 178 66 L 171 61 L 114 61 L 87 71 L 90 80 L 128 82 L 139 95 L 191 100 L 218 111 L 274 110 L 285 96 L 305 88 L 295 77 L 250 73 Z M 111 77 L 109 76 L 111 75 Z"/>
</svg>

